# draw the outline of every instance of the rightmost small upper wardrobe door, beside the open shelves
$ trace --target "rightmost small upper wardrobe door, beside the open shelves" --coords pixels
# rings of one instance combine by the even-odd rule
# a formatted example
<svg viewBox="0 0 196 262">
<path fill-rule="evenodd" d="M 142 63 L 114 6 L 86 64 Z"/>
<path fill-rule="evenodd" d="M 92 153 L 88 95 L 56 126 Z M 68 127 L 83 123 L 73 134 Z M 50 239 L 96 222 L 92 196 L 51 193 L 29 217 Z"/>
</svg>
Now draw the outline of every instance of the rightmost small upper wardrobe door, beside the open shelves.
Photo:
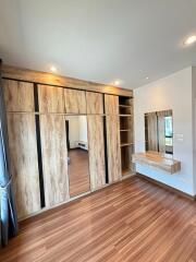
<svg viewBox="0 0 196 262">
<path fill-rule="evenodd" d="M 119 96 L 105 95 L 106 115 L 119 115 Z"/>
</svg>

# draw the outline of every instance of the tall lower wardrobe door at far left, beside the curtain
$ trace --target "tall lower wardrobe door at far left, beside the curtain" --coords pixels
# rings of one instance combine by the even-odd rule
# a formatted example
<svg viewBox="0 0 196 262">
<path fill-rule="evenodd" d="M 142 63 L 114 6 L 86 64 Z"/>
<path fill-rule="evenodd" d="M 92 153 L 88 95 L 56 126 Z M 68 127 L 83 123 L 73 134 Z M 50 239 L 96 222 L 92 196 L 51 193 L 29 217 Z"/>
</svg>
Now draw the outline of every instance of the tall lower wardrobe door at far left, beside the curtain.
<svg viewBox="0 0 196 262">
<path fill-rule="evenodd" d="M 19 218 L 40 210 L 35 116 L 8 114 L 11 174 Z"/>
</svg>

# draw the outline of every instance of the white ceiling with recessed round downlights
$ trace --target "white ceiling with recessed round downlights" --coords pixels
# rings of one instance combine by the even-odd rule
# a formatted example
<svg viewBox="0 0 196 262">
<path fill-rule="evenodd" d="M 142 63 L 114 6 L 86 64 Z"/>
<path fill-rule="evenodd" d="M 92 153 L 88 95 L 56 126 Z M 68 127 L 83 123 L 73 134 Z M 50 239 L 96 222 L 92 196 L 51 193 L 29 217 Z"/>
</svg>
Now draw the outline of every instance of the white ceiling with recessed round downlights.
<svg viewBox="0 0 196 262">
<path fill-rule="evenodd" d="M 194 33 L 196 0 L 0 0 L 4 63 L 130 88 L 196 64 Z"/>
</svg>

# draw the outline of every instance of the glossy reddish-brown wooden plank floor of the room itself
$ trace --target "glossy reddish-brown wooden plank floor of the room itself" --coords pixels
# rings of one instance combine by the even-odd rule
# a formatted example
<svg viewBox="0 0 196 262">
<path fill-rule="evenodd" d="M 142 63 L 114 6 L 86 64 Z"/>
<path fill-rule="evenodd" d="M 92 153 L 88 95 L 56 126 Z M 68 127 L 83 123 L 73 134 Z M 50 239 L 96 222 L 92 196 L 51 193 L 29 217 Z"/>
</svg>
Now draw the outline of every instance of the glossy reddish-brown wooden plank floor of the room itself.
<svg viewBox="0 0 196 262">
<path fill-rule="evenodd" d="M 194 262 L 196 202 L 124 180 L 23 222 L 8 262 Z"/>
</svg>

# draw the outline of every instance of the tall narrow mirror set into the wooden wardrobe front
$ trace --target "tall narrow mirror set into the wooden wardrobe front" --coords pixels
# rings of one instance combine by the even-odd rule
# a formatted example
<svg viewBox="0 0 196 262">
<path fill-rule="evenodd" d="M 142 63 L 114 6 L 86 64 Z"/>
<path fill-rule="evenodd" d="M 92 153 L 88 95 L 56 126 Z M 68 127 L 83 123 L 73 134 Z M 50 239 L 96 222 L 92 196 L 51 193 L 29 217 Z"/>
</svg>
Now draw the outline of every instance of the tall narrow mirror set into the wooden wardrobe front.
<svg viewBox="0 0 196 262">
<path fill-rule="evenodd" d="M 86 116 L 66 116 L 70 196 L 90 189 Z"/>
</svg>

